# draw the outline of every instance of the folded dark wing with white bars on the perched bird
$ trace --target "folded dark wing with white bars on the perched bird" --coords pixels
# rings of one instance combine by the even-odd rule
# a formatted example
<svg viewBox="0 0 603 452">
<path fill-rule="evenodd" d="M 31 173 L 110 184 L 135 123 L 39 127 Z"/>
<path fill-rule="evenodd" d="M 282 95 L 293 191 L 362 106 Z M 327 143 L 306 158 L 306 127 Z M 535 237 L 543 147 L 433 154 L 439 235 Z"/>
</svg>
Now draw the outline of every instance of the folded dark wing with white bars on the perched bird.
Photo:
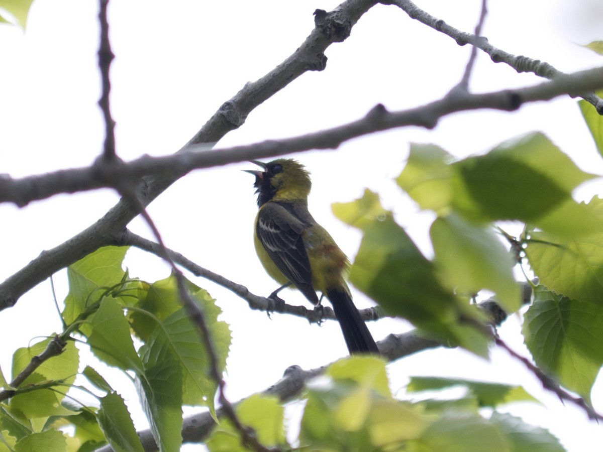
<svg viewBox="0 0 603 452">
<path fill-rule="evenodd" d="M 312 269 L 301 233 L 308 227 L 286 207 L 267 202 L 257 216 L 256 232 L 262 245 L 285 277 L 305 295 L 312 304 L 318 297 L 312 287 Z"/>
</svg>

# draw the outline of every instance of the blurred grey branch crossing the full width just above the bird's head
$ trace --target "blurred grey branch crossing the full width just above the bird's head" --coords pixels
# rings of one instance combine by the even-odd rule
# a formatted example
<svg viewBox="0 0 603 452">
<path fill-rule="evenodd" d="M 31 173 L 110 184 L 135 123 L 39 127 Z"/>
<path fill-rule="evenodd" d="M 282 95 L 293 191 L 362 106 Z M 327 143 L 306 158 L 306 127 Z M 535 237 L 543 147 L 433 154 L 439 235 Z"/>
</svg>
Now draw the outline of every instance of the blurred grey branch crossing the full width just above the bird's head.
<svg viewBox="0 0 603 452">
<path fill-rule="evenodd" d="M 25 206 L 30 201 L 58 193 L 74 193 L 101 187 L 115 188 L 119 186 L 120 181 L 137 180 L 146 176 L 163 175 L 175 180 L 193 169 L 276 157 L 309 149 L 335 149 L 347 140 L 393 128 L 414 125 L 431 129 L 441 118 L 460 111 L 514 111 L 527 102 L 548 101 L 561 95 L 573 95 L 584 89 L 601 88 L 603 67 L 596 67 L 569 75 L 563 74 L 555 80 L 519 89 L 480 94 L 454 92 L 409 110 L 387 111 L 383 105 L 378 104 L 356 121 L 288 139 L 265 140 L 251 145 L 214 150 L 207 150 L 207 145 L 187 145 L 177 154 L 165 157 L 145 155 L 130 163 L 97 160 L 86 168 L 64 169 L 19 179 L 3 177 L 0 178 L 0 202 L 14 202 L 18 206 Z M 118 214 L 113 212 L 115 209 L 116 207 L 107 215 L 112 218 L 117 216 Z M 119 225 L 125 227 L 125 224 L 125 219 L 119 218 Z"/>
</svg>

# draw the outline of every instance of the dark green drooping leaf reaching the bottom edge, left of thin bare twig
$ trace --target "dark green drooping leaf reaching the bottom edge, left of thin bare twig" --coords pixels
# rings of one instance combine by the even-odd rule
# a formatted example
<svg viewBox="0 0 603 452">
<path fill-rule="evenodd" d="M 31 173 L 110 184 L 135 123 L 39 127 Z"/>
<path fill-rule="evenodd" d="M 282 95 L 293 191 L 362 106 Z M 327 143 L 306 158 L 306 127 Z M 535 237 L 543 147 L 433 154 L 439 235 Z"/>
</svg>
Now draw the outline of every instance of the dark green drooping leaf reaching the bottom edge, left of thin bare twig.
<svg viewBox="0 0 603 452">
<path fill-rule="evenodd" d="M 168 347 L 148 342 L 140 348 L 143 375 L 136 390 L 159 450 L 180 450 L 182 444 L 182 366 Z"/>
</svg>

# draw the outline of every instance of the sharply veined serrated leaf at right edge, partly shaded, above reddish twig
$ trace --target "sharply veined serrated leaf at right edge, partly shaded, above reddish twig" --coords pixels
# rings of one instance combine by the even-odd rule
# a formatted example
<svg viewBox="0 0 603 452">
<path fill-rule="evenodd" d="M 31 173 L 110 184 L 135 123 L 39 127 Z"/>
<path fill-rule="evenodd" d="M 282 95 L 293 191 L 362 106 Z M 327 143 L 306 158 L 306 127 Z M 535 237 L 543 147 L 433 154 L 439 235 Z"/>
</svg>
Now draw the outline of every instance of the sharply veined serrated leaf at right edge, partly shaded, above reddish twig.
<svg viewBox="0 0 603 452">
<path fill-rule="evenodd" d="M 603 306 L 534 289 L 523 335 L 536 364 L 561 385 L 590 401 L 603 365 Z"/>
</svg>

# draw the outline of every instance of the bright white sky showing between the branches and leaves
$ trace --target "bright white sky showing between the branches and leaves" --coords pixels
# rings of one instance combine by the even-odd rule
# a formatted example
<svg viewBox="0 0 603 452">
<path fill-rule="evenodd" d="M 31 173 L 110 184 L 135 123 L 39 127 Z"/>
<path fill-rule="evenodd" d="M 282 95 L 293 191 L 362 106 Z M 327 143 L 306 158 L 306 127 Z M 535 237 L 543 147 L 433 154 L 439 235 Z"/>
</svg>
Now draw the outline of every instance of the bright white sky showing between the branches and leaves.
<svg viewBox="0 0 603 452">
<path fill-rule="evenodd" d="M 96 1 L 36 0 L 25 35 L 0 26 L 0 171 L 13 177 L 85 166 L 101 151 L 103 128 L 96 106 L 98 25 Z M 142 154 L 176 151 L 213 112 L 247 81 L 261 77 L 291 54 L 313 27 L 316 8 L 331 10 L 338 0 L 286 2 L 231 0 L 113 1 L 110 36 L 112 111 L 117 122 L 118 153 L 124 160 Z M 473 31 L 478 0 L 417 1 L 418 6 L 464 31 Z M 484 35 L 505 51 L 548 61 L 565 72 L 601 65 L 601 57 L 576 45 L 603 39 L 603 6 L 596 0 L 508 0 L 490 2 Z M 251 113 L 247 123 L 219 147 L 289 137 L 360 118 L 381 102 L 400 110 L 441 98 L 463 74 L 469 46 L 459 47 L 393 6 L 377 5 L 353 28 L 346 42 L 331 46 L 326 71 L 294 81 Z M 532 74 L 518 75 L 479 54 L 471 81 L 476 92 L 535 84 Z M 396 212 L 400 224 L 429 254 L 429 215 L 394 185 L 411 142 L 434 142 L 463 157 L 484 152 L 505 139 L 541 130 L 583 169 L 603 174 L 601 159 L 579 116 L 575 101 L 557 99 L 526 105 L 516 113 L 478 111 L 446 118 L 435 130 L 404 128 L 353 140 L 338 151 L 298 154 L 314 177 L 310 205 L 315 218 L 353 257 L 359 236 L 338 222 L 330 204 L 350 201 L 370 187 Z M 249 165 L 198 171 L 174 184 L 150 207 L 166 244 L 238 283 L 268 295 L 275 287 L 257 262 L 251 240 L 256 212 Z M 579 192 L 584 199 L 601 192 L 600 181 Z M 40 251 L 62 243 L 103 215 L 118 197 L 110 190 L 62 195 L 24 209 L 0 205 L 0 279 L 22 268 Z M 149 236 L 140 221 L 134 231 Z M 168 275 L 159 259 L 132 252 L 130 274 L 148 281 Z M 346 354 L 335 322 L 323 327 L 303 319 L 250 312 L 244 301 L 204 280 L 231 324 L 228 392 L 232 400 L 277 381 L 293 364 L 314 368 Z M 57 298 L 66 295 L 64 272 L 55 278 Z M 294 292 L 289 303 L 305 304 Z M 362 295 L 359 307 L 370 306 Z M 0 366 L 8 374 L 11 353 L 35 336 L 60 328 L 48 282 L 0 313 Z M 502 337 L 523 354 L 519 321 L 511 318 Z M 405 322 L 370 324 L 375 339 L 409 329 Z M 502 351 L 490 363 L 458 350 L 438 350 L 390 366 L 391 388 L 402 391 L 408 375 L 444 375 L 501 381 L 525 386 L 545 405 L 510 407 L 514 415 L 549 428 L 569 451 L 595 450 L 601 427 L 554 395 Z M 101 369 L 102 371 L 102 369 Z M 114 380 L 112 380 L 114 381 Z M 131 386 L 124 397 L 133 401 Z M 593 391 L 603 410 L 601 381 Z M 137 416 L 137 426 L 144 423 Z"/>
</svg>

